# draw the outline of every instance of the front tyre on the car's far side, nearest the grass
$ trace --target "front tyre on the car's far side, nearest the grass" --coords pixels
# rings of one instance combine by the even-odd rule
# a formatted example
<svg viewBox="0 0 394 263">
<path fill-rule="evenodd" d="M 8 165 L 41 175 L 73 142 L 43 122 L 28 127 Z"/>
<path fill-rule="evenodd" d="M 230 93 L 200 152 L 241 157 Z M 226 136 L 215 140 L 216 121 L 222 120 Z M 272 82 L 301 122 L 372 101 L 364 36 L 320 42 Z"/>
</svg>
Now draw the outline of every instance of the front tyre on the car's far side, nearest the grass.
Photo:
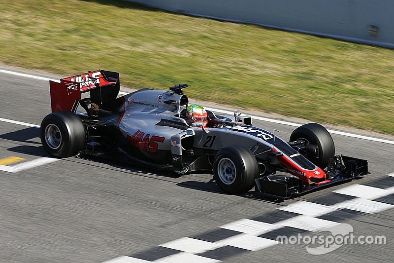
<svg viewBox="0 0 394 263">
<path fill-rule="evenodd" d="M 307 123 L 296 128 L 290 136 L 290 141 L 307 141 L 317 146 L 317 154 L 306 153 L 306 158 L 320 168 L 326 168 L 329 159 L 335 155 L 334 141 L 325 127 L 318 123 Z"/>
</svg>

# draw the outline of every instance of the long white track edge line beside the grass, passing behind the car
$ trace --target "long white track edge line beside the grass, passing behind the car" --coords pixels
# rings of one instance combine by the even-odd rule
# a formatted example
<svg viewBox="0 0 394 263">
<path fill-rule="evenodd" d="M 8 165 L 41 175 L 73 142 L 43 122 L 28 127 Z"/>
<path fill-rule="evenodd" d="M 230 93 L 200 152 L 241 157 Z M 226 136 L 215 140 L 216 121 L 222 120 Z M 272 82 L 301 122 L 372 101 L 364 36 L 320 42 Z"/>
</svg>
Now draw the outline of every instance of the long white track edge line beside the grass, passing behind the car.
<svg viewBox="0 0 394 263">
<path fill-rule="evenodd" d="M 53 81 L 59 82 L 59 80 L 57 80 L 57 79 L 51 79 L 51 78 L 47 78 L 47 77 L 41 77 L 41 76 L 36 76 L 36 75 L 29 75 L 29 74 L 18 73 L 18 72 L 7 71 L 7 70 L 1 70 L 1 69 L 0 69 L 0 73 L 10 74 L 10 75 L 17 75 L 17 76 L 23 76 L 23 77 L 29 77 L 29 78 L 40 79 L 40 80 L 45 80 L 45 81 L 53 80 Z M 120 91 L 119 94 L 127 95 L 129 93 Z M 219 110 L 219 109 L 214 109 L 214 108 L 205 108 L 205 109 L 207 109 L 209 111 L 213 111 L 213 112 L 218 112 L 218 113 L 226 113 L 226 114 L 230 114 L 230 115 L 233 114 L 233 112 L 230 112 L 230 111 L 224 111 L 224 110 Z M 253 115 L 250 115 L 250 116 L 252 118 L 254 118 L 254 119 L 258 119 L 258 120 L 262 120 L 262 121 L 266 121 L 266 122 L 273 122 L 273 123 L 284 124 L 284 125 L 294 126 L 294 127 L 301 126 L 301 124 L 299 124 L 299 123 L 294 123 L 294 122 L 289 122 L 289 121 L 270 119 L 270 118 L 264 118 L 264 117 L 253 116 Z M 394 141 L 385 140 L 385 139 L 379 139 L 379 138 L 370 137 L 370 136 L 358 135 L 358 134 L 353 134 L 353 133 L 348 133 L 348 132 L 341 132 L 341 131 L 335 131 L 335 130 L 328 130 L 328 132 L 332 133 L 332 134 L 338 134 L 338 135 L 342 135 L 342 136 L 347 136 L 347 137 L 353 137 L 353 138 L 358 138 L 358 139 L 363 139 L 363 140 L 368 140 L 368 141 L 373 141 L 373 142 L 379 142 L 379 143 L 393 144 L 394 145 Z"/>
</svg>

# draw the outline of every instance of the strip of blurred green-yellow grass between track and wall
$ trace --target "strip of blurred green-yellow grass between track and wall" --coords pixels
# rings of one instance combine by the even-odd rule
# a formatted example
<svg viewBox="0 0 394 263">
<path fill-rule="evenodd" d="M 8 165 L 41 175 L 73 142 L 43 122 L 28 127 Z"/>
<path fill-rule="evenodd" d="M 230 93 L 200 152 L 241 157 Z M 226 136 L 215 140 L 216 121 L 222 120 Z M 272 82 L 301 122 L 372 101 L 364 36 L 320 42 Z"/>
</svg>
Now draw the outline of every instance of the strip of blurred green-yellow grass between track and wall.
<svg viewBox="0 0 394 263">
<path fill-rule="evenodd" d="M 117 0 L 2 0 L 0 63 L 117 71 L 262 112 L 394 134 L 394 50 L 189 17 Z"/>
</svg>

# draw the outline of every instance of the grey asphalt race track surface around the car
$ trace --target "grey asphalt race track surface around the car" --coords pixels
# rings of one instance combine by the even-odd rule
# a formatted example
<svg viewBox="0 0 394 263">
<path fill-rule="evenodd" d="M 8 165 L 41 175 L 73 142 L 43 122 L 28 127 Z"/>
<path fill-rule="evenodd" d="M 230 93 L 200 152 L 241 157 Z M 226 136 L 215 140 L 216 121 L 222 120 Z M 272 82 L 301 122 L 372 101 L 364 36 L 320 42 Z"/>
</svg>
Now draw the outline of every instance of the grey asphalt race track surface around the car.
<svg viewBox="0 0 394 263">
<path fill-rule="evenodd" d="M 0 69 L 59 77 L 7 66 Z M 223 105 L 209 106 L 231 110 Z M 48 81 L 0 73 L 0 118 L 39 125 L 48 113 Z M 276 129 L 282 138 L 289 138 L 294 130 L 292 126 L 259 120 L 253 124 L 266 130 Z M 329 128 L 350 131 L 343 127 Z M 212 259 L 216 259 L 226 263 L 393 261 L 394 196 L 389 192 L 394 187 L 394 177 L 389 176 L 394 173 L 393 144 L 333 134 L 336 153 L 367 159 L 371 175 L 296 199 L 275 202 L 224 194 L 209 174 L 178 177 L 98 158 L 47 161 L 43 157 L 49 156 L 41 146 L 38 132 L 36 127 L 0 121 L 0 161 L 15 156 L 24 158 L 18 163 L 33 163 L 33 167 L 14 173 L 5 171 L 4 166 L 0 170 L 0 262 L 101 263 L 115 258 L 118 260 L 113 263 L 166 262 L 162 260 L 165 256 L 169 256 L 167 262 L 185 263 L 192 259 L 197 259 L 196 262 L 215 262 Z M 354 129 L 351 132 L 394 141 L 391 136 Z M 38 165 L 38 161 L 47 163 Z M 16 167 L 18 163 L 7 166 Z M 351 191 L 353 195 L 333 192 L 349 186 L 356 189 Z M 379 195 L 382 189 L 388 194 Z M 373 198 L 375 195 L 377 198 Z M 335 210 L 328 215 L 319 212 L 357 196 L 368 205 L 351 202 L 345 211 Z M 297 208 L 297 204 L 303 202 L 306 212 Z M 293 206 L 296 210 L 291 210 Z M 319 213 L 326 221 L 313 220 Z M 356 236 L 385 235 L 387 244 L 345 244 L 315 256 L 306 251 L 305 244 L 265 246 L 269 242 L 263 238 L 269 239 L 269 234 L 258 233 L 258 226 L 248 225 L 266 222 L 272 226 L 297 214 L 314 214 L 309 218 L 311 228 L 321 229 L 320 222 L 346 223 L 353 226 Z M 264 221 L 266 218 L 270 218 L 270 222 Z M 249 235 L 244 234 L 245 238 L 235 241 L 229 239 L 226 246 L 216 250 L 202 249 L 204 245 L 212 246 L 234 236 L 234 222 L 240 222 L 235 224 L 241 229 L 236 233 L 244 231 Z M 305 218 L 300 222 L 304 224 Z M 229 224 L 230 227 L 224 226 Z M 292 229 L 296 234 L 298 228 Z M 251 232 L 256 234 L 250 235 Z M 308 234 L 316 233 L 308 231 Z M 171 243 L 178 239 L 181 241 Z M 206 243 L 199 244 L 196 240 Z M 161 246 L 163 244 L 166 245 Z M 192 247 L 189 254 L 174 248 L 188 244 Z M 197 248 L 200 252 L 194 251 Z M 185 258 L 171 258 L 175 254 Z M 198 258 L 186 260 L 193 254 L 198 254 Z M 122 256 L 130 257 L 119 258 Z"/>
</svg>

